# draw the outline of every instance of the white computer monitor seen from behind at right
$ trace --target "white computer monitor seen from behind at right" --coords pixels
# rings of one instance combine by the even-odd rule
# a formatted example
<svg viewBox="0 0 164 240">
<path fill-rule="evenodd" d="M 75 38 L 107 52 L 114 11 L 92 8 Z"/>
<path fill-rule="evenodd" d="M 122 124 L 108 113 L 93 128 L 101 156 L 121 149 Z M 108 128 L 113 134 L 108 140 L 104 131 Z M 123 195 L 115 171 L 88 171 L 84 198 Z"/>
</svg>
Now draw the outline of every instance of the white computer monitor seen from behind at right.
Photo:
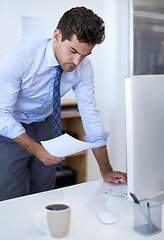
<svg viewBox="0 0 164 240">
<path fill-rule="evenodd" d="M 164 191 L 164 75 L 126 78 L 125 109 L 128 198 L 153 198 Z"/>
</svg>

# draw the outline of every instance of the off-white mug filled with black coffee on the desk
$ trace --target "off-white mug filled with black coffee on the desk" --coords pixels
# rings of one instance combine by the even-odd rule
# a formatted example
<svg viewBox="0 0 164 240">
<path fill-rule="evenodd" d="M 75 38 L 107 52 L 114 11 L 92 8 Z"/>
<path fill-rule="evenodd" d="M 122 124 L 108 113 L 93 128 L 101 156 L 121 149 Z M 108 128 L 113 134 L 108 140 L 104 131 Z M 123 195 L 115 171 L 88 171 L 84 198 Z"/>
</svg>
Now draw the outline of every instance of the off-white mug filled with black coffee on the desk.
<svg viewBox="0 0 164 240">
<path fill-rule="evenodd" d="M 71 221 L 71 208 L 67 204 L 63 203 L 54 203 L 45 206 L 46 215 L 47 215 L 47 225 L 42 226 L 41 216 L 45 216 L 45 213 L 38 213 L 36 216 L 36 223 L 38 227 L 46 232 L 50 233 L 53 238 L 65 237 L 70 228 Z"/>
</svg>

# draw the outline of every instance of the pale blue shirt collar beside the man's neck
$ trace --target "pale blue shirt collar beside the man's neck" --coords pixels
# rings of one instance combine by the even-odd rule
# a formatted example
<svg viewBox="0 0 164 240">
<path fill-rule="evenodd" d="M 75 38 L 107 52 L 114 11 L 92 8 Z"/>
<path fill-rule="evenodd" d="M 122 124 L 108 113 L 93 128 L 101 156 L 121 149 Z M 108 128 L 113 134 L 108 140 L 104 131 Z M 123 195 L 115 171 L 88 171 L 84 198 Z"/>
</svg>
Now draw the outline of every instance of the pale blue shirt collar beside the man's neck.
<svg viewBox="0 0 164 240">
<path fill-rule="evenodd" d="M 53 53 L 53 39 L 50 39 L 47 44 L 46 59 L 47 59 L 47 66 L 49 66 L 49 67 L 55 67 L 55 66 L 59 65 L 59 63 Z"/>
</svg>

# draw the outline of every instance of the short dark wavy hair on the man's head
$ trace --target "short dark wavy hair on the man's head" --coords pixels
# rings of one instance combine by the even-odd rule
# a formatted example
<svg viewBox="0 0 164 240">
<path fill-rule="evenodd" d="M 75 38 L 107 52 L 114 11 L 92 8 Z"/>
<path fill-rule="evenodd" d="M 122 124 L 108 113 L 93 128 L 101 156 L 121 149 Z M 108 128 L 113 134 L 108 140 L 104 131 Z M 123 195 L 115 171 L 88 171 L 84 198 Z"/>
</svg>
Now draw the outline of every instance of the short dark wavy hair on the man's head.
<svg viewBox="0 0 164 240">
<path fill-rule="evenodd" d="M 79 42 L 88 45 L 100 44 L 105 39 L 104 21 L 85 7 L 75 7 L 65 12 L 57 29 L 62 32 L 62 41 L 71 40 L 74 34 Z"/>
</svg>

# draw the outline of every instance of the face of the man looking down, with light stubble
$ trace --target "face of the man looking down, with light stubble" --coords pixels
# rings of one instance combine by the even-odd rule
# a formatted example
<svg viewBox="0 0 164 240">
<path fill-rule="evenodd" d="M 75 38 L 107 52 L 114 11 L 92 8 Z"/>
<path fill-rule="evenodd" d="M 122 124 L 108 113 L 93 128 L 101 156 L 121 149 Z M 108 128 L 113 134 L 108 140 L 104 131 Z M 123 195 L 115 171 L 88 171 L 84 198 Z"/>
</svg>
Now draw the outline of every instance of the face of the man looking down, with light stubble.
<svg viewBox="0 0 164 240">
<path fill-rule="evenodd" d="M 86 56 L 91 54 L 94 47 L 94 45 L 79 42 L 76 35 L 73 35 L 70 41 L 65 40 L 62 42 L 62 35 L 58 29 L 55 30 L 53 39 L 54 55 L 66 72 L 73 71 Z"/>
</svg>

